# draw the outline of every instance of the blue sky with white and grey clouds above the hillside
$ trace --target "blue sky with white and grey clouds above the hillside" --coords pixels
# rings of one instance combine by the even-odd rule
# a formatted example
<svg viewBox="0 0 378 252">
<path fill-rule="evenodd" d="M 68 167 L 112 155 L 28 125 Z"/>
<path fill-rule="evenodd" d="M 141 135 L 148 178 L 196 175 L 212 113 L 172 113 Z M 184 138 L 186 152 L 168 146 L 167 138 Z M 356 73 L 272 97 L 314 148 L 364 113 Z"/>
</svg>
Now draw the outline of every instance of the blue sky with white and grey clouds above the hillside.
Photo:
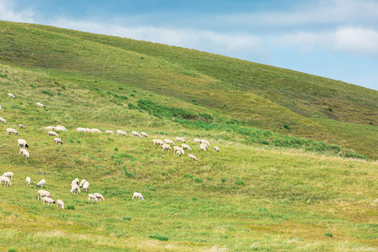
<svg viewBox="0 0 378 252">
<path fill-rule="evenodd" d="M 0 0 L 0 20 L 195 48 L 378 90 L 377 0 Z"/>
</svg>

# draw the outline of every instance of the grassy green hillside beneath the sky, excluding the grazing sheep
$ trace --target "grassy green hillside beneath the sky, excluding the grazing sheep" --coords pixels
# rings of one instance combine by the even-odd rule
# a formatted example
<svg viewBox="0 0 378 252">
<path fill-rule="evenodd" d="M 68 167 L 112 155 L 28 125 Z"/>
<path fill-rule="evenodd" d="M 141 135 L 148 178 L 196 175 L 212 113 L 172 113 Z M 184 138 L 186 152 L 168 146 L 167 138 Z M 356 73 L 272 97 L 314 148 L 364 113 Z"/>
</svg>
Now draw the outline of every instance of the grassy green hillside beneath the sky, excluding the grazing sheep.
<svg viewBox="0 0 378 252">
<path fill-rule="evenodd" d="M 220 55 L 0 22 L 0 174 L 15 174 L 0 187 L 0 251 L 378 251 L 377 101 Z M 68 129 L 62 146 L 48 125 Z M 153 146 L 176 136 L 197 162 Z M 76 177 L 106 201 L 69 193 Z M 37 200 L 41 179 L 64 210 Z"/>
</svg>

